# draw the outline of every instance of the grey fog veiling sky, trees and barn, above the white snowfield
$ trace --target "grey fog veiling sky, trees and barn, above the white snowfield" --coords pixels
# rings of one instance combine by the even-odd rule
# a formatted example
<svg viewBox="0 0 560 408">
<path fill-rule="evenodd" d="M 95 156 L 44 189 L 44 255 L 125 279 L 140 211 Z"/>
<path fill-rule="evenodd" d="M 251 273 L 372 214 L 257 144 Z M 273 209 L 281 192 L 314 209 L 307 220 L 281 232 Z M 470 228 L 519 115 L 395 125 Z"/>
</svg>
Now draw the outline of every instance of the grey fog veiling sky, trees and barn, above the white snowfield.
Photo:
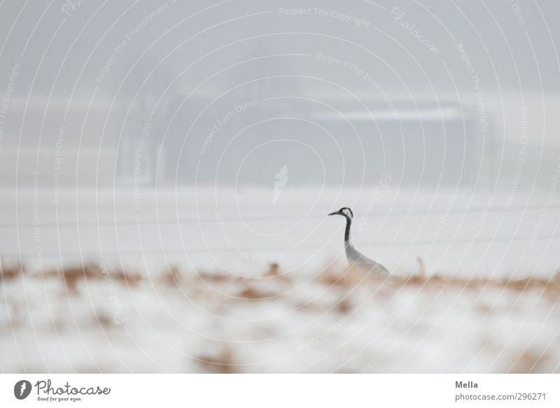
<svg viewBox="0 0 560 408">
<path fill-rule="evenodd" d="M 559 8 L 6 3 L 1 184 L 547 190 Z"/>
</svg>

